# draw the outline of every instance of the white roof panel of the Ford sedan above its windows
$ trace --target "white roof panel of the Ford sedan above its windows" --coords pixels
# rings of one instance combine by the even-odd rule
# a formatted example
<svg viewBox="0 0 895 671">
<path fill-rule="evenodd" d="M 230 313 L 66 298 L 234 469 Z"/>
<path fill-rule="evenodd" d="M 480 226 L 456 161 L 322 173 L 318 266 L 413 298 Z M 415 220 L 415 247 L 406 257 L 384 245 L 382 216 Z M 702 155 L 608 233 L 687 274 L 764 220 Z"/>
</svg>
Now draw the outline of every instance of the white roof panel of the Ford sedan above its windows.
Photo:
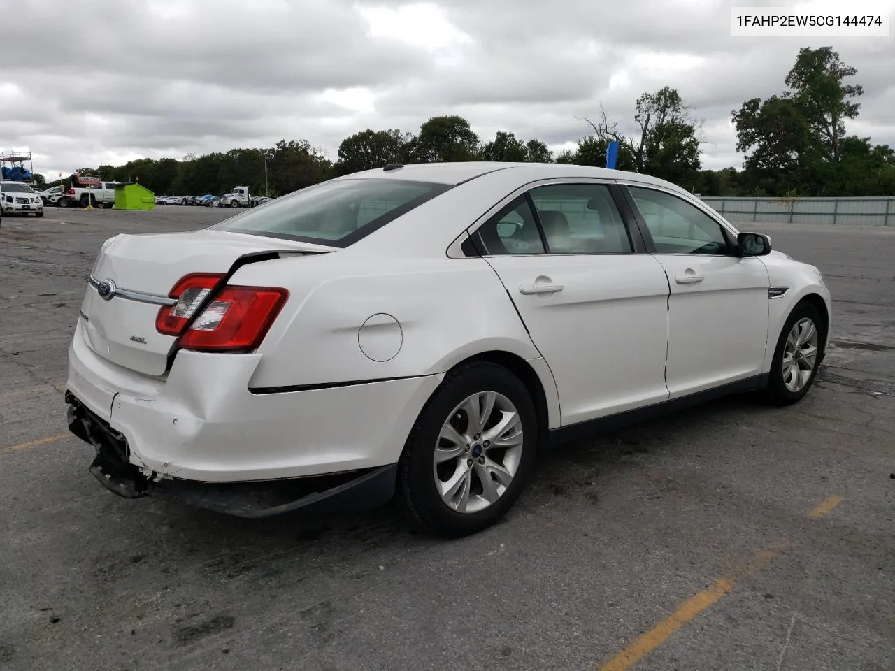
<svg viewBox="0 0 895 671">
<path fill-rule="evenodd" d="M 563 163 L 502 163 L 497 161 L 466 161 L 458 163 L 415 163 L 395 164 L 387 168 L 363 170 L 359 173 L 346 174 L 337 180 L 348 179 L 400 179 L 414 182 L 431 182 L 441 184 L 462 184 L 484 174 L 497 171 L 512 171 L 523 176 L 524 181 L 551 179 L 555 177 L 576 178 L 590 177 L 594 179 L 630 180 L 640 183 L 661 184 L 678 190 L 675 184 L 652 177 L 648 174 L 631 173 L 625 170 L 593 166 L 575 166 Z"/>
</svg>

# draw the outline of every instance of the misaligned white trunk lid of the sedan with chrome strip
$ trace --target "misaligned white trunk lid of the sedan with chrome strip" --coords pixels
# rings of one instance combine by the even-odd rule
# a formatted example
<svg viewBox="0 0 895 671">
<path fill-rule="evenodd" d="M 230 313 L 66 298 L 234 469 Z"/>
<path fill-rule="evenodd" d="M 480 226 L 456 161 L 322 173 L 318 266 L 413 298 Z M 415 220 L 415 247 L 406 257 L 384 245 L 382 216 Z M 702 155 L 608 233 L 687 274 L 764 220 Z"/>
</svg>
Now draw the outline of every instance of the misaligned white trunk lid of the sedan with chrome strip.
<svg viewBox="0 0 895 671">
<path fill-rule="evenodd" d="M 167 298 L 181 277 L 226 274 L 240 259 L 251 262 L 251 257 L 270 252 L 301 255 L 328 251 L 334 248 L 209 230 L 118 235 L 103 245 L 90 272 L 93 284 L 88 285 L 81 304 L 82 337 L 93 352 L 108 361 L 146 375 L 163 375 L 177 338 L 156 330 L 162 307 L 158 299 Z M 120 295 L 100 298 L 96 284 L 104 281 L 114 282 L 119 291 L 141 294 L 139 300 Z"/>
</svg>

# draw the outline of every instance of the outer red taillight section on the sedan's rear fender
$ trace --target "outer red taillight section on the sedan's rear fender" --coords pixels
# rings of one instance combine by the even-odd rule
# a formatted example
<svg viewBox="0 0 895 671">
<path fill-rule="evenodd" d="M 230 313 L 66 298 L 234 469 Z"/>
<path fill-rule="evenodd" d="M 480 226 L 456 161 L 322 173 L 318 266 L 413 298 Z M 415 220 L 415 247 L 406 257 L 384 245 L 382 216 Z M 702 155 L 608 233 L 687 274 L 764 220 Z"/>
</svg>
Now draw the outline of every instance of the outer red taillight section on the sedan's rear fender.
<svg viewBox="0 0 895 671">
<path fill-rule="evenodd" d="M 225 286 L 181 335 L 180 346 L 200 352 L 256 349 L 289 297 L 286 289 Z"/>
</svg>

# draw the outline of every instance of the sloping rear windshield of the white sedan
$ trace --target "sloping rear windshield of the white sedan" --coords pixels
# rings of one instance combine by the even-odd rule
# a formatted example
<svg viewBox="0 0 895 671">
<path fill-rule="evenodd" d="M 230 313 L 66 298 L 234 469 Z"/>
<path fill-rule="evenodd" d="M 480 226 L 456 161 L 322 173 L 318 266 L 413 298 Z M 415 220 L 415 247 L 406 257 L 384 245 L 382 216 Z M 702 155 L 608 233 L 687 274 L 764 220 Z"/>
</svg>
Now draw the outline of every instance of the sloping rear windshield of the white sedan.
<svg viewBox="0 0 895 671">
<path fill-rule="evenodd" d="M 450 188 L 405 180 L 335 180 L 270 200 L 211 228 L 347 247 Z"/>
</svg>

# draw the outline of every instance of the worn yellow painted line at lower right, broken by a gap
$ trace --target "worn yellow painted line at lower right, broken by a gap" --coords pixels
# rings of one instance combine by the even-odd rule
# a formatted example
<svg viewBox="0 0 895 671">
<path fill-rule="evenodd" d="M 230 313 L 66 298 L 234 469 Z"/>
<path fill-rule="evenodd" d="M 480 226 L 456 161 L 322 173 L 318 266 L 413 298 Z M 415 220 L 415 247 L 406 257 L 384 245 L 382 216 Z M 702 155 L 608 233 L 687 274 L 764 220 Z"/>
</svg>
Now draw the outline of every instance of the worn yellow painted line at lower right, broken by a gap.
<svg viewBox="0 0 895 671">
<path fill-rule="evenodd" d="M 819 505 L 808 513 L 809 519 L 820 519 L 823 515 L 830 513 L 837 505 L 840 505 L 843 500 L 845 500 L 843 497 L 835 495 L 823 499 Z M 690 622 L 695 616 L 698 616 L 703 610 L 712 606 L 718 599 L 728 594 L 730 590 L 733 590 L 737 581 L 757 573 L 771 559 L 780 554 L 780 551 L 786 546 L 785 540 L 772 544 L 750 557 L 736 572 L 731 573 L 727 577 L 719 578 L 712 584 L 712 587 L 696 593 L 690 599 L 686 599 L 674 613 L 659 624 L 656 624 L 649 632 L 644 633 L 624 650 L 618 652 L 615 657 L 609 659 L 601 667 L 598 667 L 597 671 L 626 671 L 633 667 L 638 661 L 650 654 L 652 650 L 668 641 L 671 634 L 677 632 L 678 629 Z"/>
</svg>

